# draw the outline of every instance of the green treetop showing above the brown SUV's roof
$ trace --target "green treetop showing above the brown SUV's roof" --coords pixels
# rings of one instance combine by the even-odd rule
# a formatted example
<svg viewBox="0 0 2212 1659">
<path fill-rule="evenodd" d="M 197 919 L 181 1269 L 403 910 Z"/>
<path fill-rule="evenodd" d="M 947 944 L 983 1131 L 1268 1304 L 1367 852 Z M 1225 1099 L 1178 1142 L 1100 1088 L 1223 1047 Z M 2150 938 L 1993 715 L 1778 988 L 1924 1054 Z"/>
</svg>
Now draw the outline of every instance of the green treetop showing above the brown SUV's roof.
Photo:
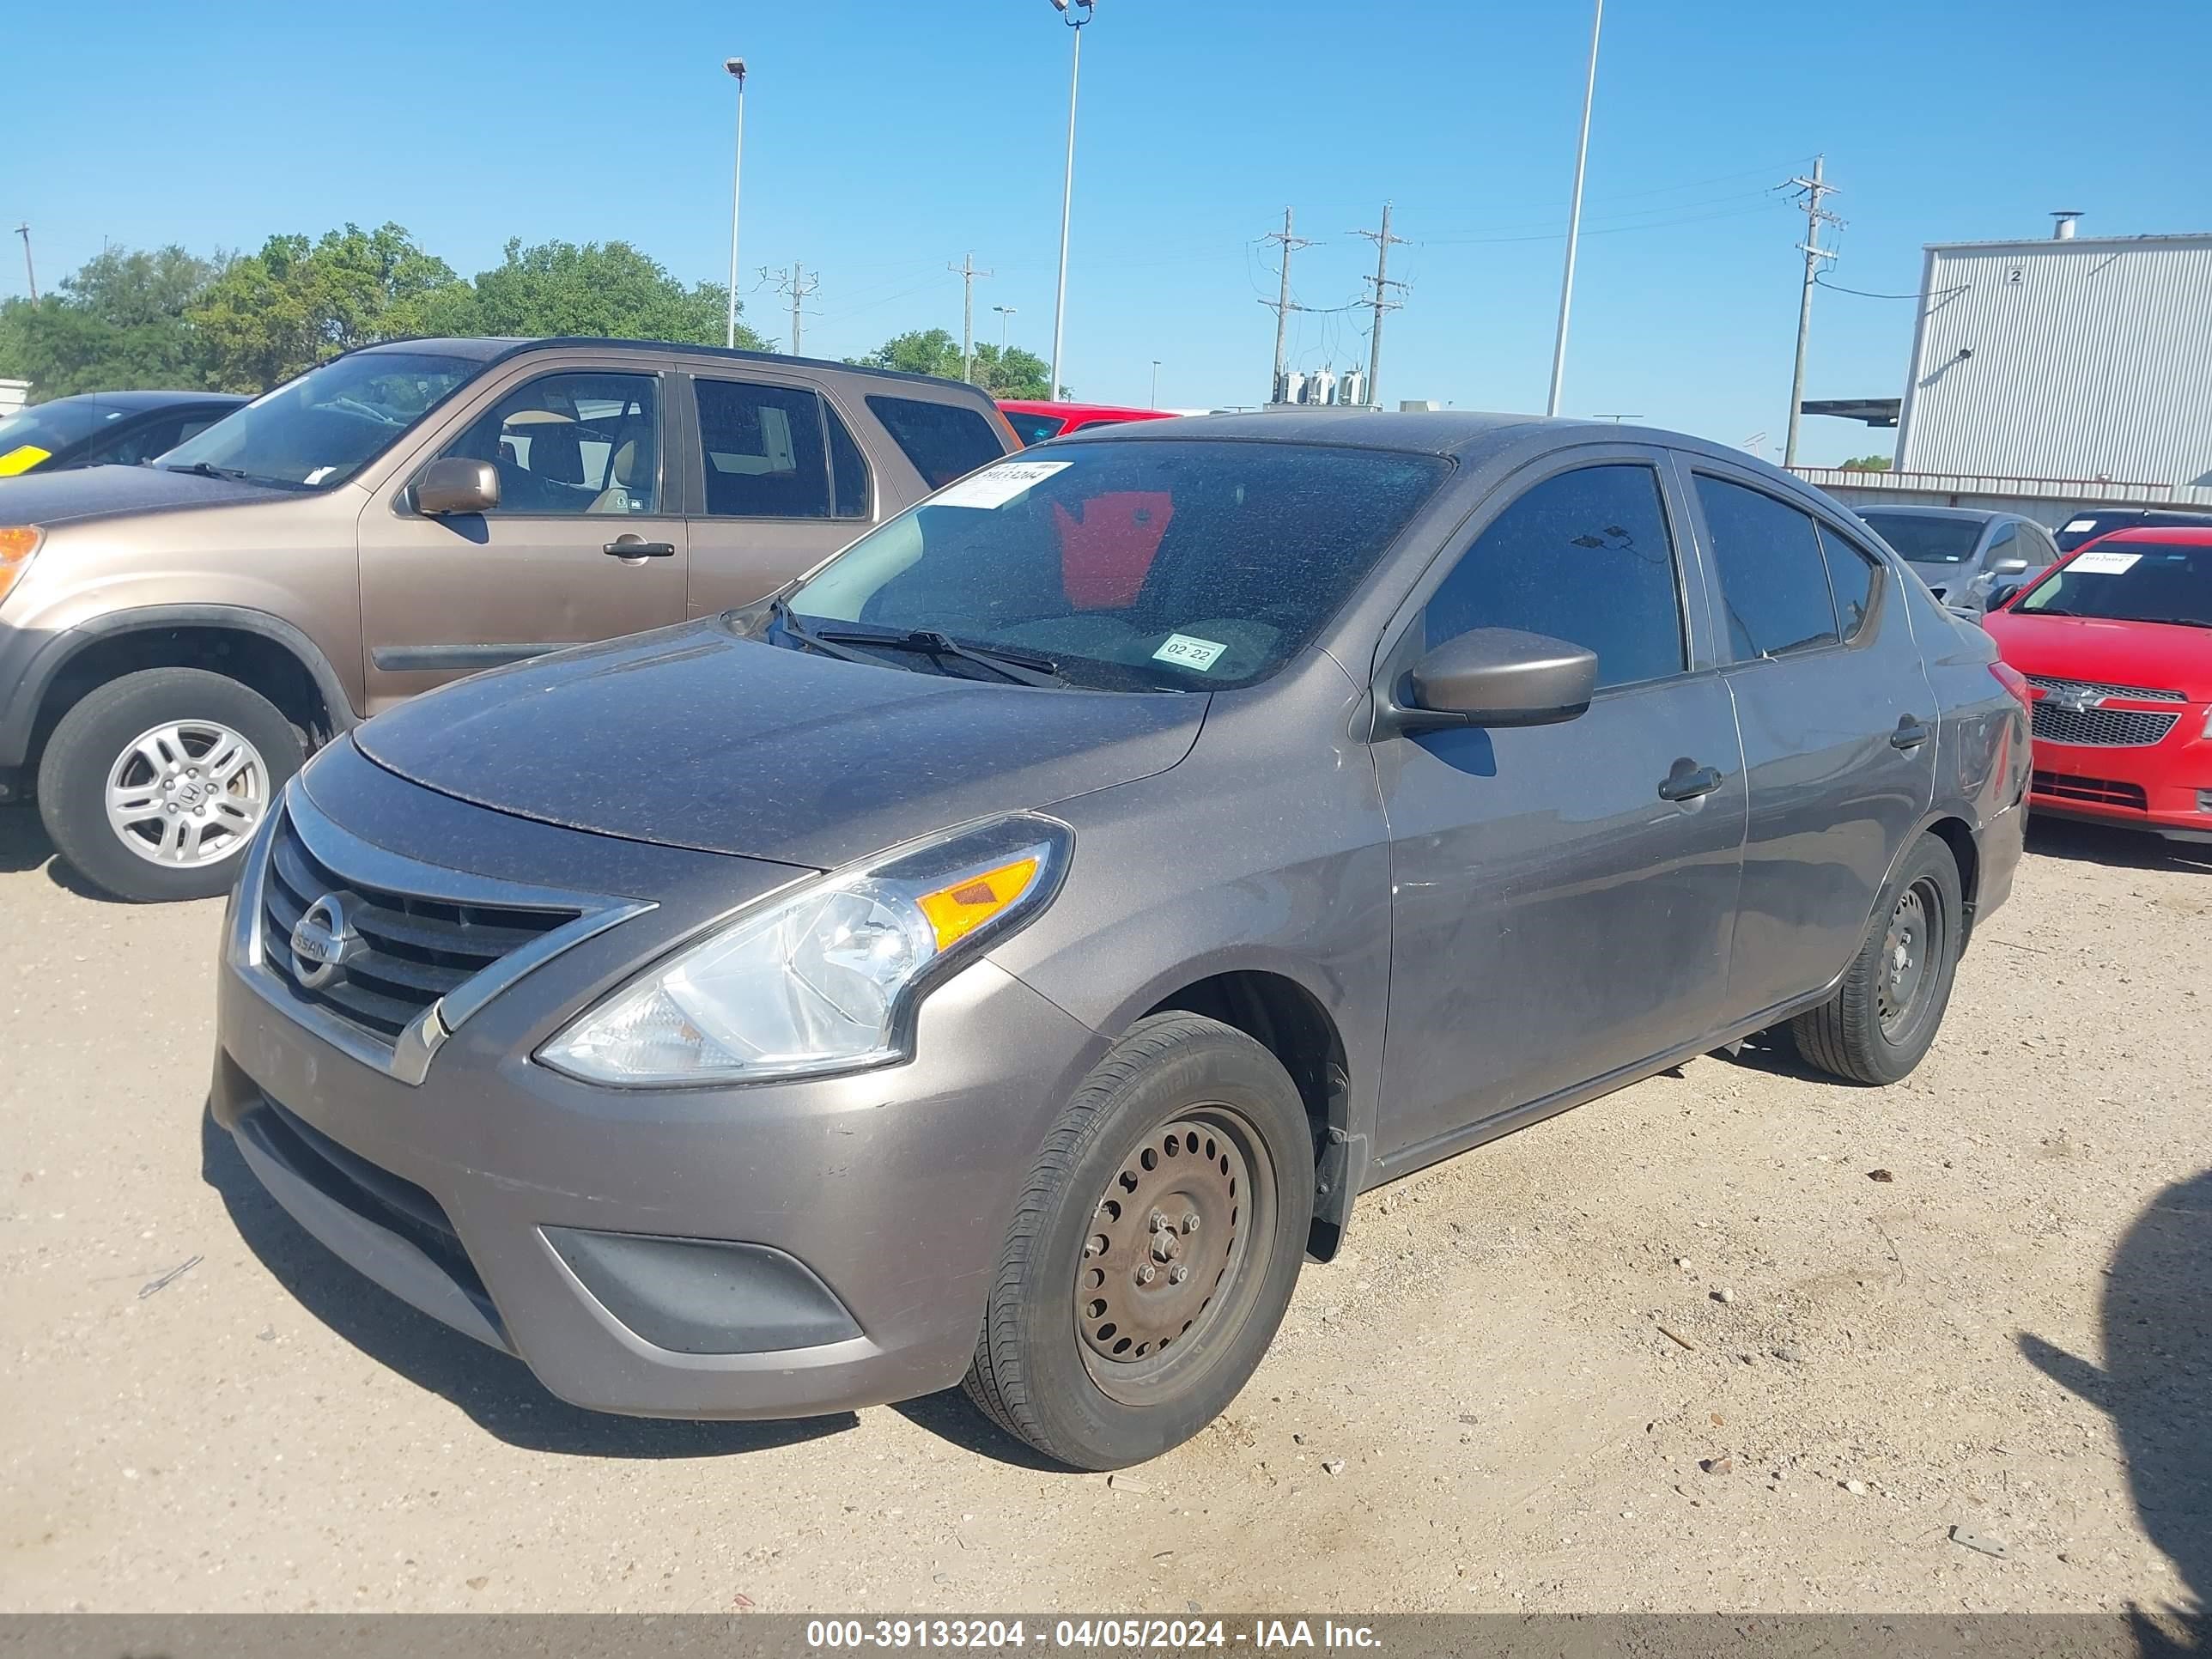
<svg viewBox="0 0 2212 1659">
<path fill-rule="evenodd" d="M 507 243 L 507 261 L 478 272 L 469 301 L 440 321 L 447 334 L 588 334 L 613 341 L 721 345 L 730 290 L 686 288 L 626 241 Z M 462 325 L 465 323 L 465 325 Z M 739 323 L 737 343 L 763 349 Z"/>
</svg>

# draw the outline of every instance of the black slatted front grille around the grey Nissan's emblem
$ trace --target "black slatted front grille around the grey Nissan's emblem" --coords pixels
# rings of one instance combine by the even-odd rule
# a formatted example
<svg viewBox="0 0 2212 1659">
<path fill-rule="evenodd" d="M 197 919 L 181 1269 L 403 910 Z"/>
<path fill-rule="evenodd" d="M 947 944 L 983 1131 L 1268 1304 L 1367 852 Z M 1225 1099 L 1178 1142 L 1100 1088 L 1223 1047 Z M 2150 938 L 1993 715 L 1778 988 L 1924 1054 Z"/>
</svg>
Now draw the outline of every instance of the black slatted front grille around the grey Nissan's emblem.
<svg viewBox="0 0 2212 1659">
<path fill-rule="evenodd" d="M 290 940 L 307 907 L 325 896 L 338 900 L 365 949 L 330 982 L 307 989 Z M 392 1044 L 438 998 L 577 916 L 580 909 L 458 905 L 365 885 L 321 863 L 285 814 L 261 885 L 261 956 L 294 998 Z"/>
</svg>

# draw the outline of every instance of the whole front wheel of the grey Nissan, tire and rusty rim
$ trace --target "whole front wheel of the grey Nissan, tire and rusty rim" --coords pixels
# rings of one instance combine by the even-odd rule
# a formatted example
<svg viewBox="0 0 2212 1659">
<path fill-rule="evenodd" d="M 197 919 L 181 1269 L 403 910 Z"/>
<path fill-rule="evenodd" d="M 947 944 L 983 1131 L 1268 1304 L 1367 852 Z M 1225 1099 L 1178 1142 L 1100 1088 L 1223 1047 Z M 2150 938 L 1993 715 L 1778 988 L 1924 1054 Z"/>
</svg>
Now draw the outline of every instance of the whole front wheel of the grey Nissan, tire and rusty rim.
<svg viewBox="0 0 2212 1659">
<path fill-rule="evenodd" d="M 1243 1170 L 1234 1190 L 1230 1170 Z M 1133 1175 L 1141 1186 L 1124 1192 Z M 1130 1194 L 1146 1197 L 1121 1212 L 1117 1199 Z M 1177 1217 L 1146 1230 L 1164 1217 L 1155 1197 Z M 1208 1210 L 1214 1225 L 1201 1237 L 1192 1219 Z M 1139 1020 L 1044 1137 L 1000 1250 L 969 1398 L 1075 1469 L 1157 1458 L 1221 1416 L 1259 1367 L 1312 1219 L 1314 1139 L 1276 1057 L 1219 1020 Z M 1088 1301 L 1108 1267 L 1117 1301 L 1135 1310 L 1119 1336 L 1102 1323 L 1104 1296 Z"/>
</svg>

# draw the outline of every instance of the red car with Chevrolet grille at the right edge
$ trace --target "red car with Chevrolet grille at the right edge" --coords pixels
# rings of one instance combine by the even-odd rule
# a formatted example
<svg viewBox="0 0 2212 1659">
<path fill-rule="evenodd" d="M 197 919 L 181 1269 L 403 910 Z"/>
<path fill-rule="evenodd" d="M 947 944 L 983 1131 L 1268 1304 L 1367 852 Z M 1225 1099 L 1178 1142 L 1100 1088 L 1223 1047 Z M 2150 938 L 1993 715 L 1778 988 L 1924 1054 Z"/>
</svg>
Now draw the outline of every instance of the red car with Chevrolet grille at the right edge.
<svg viewBox="0 0 2212 1659">
<path fill-rule="evenodd" d="M 2212 529 L 2101 535 L 1982 626 L 2028 679 L 2035 812 L 2212 841 Z"/>
</svg>

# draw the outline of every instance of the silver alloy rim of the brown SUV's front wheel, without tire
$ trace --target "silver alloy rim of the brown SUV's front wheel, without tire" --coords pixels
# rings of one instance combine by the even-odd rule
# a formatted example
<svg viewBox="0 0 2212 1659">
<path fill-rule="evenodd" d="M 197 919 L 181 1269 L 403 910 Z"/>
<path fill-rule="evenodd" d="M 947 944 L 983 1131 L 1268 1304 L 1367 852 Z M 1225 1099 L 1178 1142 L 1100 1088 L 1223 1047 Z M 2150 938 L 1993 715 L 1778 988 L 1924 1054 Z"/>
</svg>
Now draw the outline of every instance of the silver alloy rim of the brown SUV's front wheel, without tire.
<svg viewBox="0 0 2212 1659">
<path fill-rule="evenodd" d="M 108 827 L 139 858 L 201 869 L 237 854 L 270 803 L 270 770 L 215 721 L 139 732 L 108 768 Z"/>
</svg>

